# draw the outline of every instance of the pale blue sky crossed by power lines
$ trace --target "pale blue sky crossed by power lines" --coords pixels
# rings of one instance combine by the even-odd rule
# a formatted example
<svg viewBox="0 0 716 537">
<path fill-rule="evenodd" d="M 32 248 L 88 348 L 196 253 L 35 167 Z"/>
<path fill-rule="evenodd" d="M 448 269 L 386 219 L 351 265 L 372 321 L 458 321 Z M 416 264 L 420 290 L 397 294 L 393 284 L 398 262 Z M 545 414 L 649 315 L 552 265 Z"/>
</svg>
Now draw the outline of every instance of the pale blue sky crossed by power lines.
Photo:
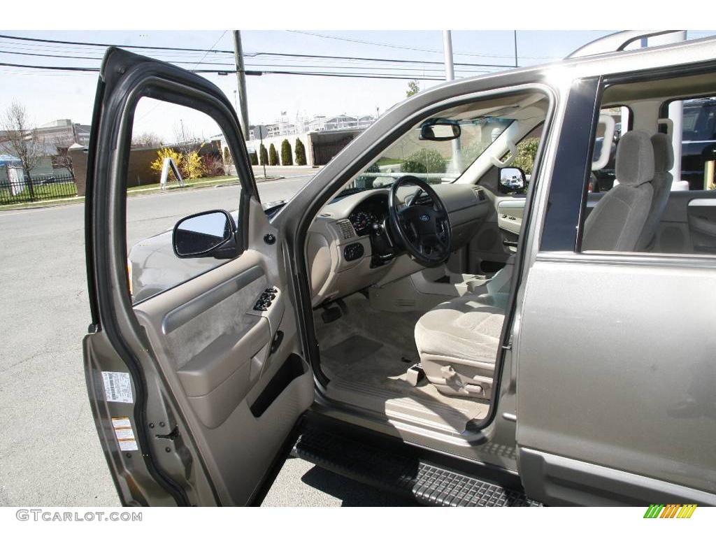
<svg viewBox="0 0 716 537">
<path fill-rule="evenodd" d="M 574 49 L 611 31 L 518 31 L 518 64 L 523 66 L 553 62 L 565 57 Z M 231 30 L 174 32 L 18 32 L 2 31 L 0 34 L 40 39 L 58 39 L 72 42 L 93 42 L 154 47 L 182 47 L 195 49 L 233 50 Z M 689 38 L 705 37 L 716 32 L 689 32 Z M 246 69 L 300 69 L 316 72 L 316 66 L 330 65 L 334 72 L 348 72 L 355 62 L 347 60 L 321 60 L 276 58 L 254 56 L 261 52 L 289 54 L 321 54 L 332 56 L 371 57 L 381 59 L 410 59 L 420 62 L 442 62 L 442 32 L 406 31 L 395 32 L 331 32 L 316 31 L 243 31 L 243 50 Z M 511 31 L 454 31 L 453 52 L 455 63 L 502 64 L 514 62 L 514 42 Z M 74 67 L 99 67 L 104 47 L 85 47 L 67 44 L 47 44 L 16 41 L 0 37 L 0 62 L 11 64 L 55 65 Z M 181 67 L 233 69 L 231 54 L 177 51 L 133 51 L 147 56 L 173 62 L 185 62 Z M 17 54 L 24 53 L 24 54 Z M 40 57 L 27 54 L 54 54 L 68 58 Z M 79 59 L 78 57 L 89 59 Z M 226 66 L 207 64 L 228 64 Z M 301 67 L 299 67 L 301 66 Z M 378 70 L 381 67 L 384 70 Z M 440 64 L 415 65 L 372 64 L 371 72 L 427 77 L 444 77 Z M 455 77 L 475 76 L 505 67 L 455 66 Z M 353 69 L 355 71 L 355 69 Z M 21 102 L 36 125 L 58 119 L 89 124 L 95 98 L 97 73 L 56 72 L 19 67 L 0 67 L 0 112 L 14 100 Z M 219 76 L 202 74 L 220 87 L 231 102 L 235 102 L 236 75 Z M 395 103 L 405 99 L 406 79 L 363 79 L 338 77 L 308 77 L 298 75 L 264 74 L 247 76 L 249 121 L 252 124 L 274 122 L 286 112 L 286 117 L 296 115 L 374 115 L 384 112 Z M 436 81 L 420 81 L 425 89 Z M 140 102 L 135 115 L 135 132 L 155 132 L 165 141 L 173 141 L 178 120 L 197 135 L 211 136 L 216 129 L 211 120 L 195 115 L 183 115 L 171 105 Z M 208 118 L 207 118 L 208 119 Z"/>
</svg>

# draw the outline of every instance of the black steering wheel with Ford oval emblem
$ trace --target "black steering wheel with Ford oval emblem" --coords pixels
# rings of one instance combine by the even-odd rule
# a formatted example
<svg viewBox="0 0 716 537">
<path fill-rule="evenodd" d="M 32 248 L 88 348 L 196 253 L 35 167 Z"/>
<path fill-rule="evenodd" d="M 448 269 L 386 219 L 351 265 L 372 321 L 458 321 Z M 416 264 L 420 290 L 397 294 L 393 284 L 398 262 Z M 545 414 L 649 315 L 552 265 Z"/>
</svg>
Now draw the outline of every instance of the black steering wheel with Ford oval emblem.
<svg viewBox="0 0 716 537">
<path fill-rule="evenodd" d="M 398 189 L 415 185 L 417 192 L 405 206 L 398 198 Z M 417 203 L 422 193 L 432 203 Z M 403 175 L 390 188 L 388 214 L 393 234 L 400 237 L 407 253 L 423 266 L 437 266 L 448 261 L 453 234 L 445 204 L 435 190 L 415 175 Z"/>
</svg>

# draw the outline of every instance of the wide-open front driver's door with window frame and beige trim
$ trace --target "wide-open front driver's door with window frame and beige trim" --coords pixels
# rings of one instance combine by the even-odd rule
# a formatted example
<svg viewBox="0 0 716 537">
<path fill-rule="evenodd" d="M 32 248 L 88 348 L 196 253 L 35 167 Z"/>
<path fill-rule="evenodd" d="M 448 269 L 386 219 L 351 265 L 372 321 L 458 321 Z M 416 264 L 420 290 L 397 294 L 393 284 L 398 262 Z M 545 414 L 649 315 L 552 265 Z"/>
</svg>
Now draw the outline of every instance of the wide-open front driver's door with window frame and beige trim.
<svg viewBox="0 0 716 537">
<path fill-rule="evenodd" d="M 127 165 L 142 97 L 215 120 L 241 195 L 238 218 L 216 211 L 203 221 L 222 222 L 219 235 L 226 235 L 215 256 L 223 262 L 132 304 Z M 281 233 L 261 208 L 238 119 L 223 92 L 173 65 L 109 49 L 92 120 L 85 225 L 92 324 L 84 369 L 122 503 L 260 501 L 313 402 L 314 384 L 296 337 Z M 201 239 L 203 231 L 178 226 L 174 238 Z M 173 246 L 180 254 L 177 245 L 178 239 Z"/>
</svg>

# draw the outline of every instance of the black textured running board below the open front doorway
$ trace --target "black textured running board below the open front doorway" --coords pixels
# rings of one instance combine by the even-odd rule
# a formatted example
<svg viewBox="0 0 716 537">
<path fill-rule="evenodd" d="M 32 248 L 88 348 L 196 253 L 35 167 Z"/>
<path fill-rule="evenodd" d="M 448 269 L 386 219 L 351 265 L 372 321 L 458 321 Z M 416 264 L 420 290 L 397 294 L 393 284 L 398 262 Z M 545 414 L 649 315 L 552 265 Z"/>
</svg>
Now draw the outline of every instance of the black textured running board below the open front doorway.
<svg viewBox="0 0 716 537">
<path fill-rule="evenodd" d="M 442 507 L 534 507 L 540 503 L 511 490 L 325 430 L 307 427 L 292 454 L 344 477 L 423 505 Z"/>
</svg>

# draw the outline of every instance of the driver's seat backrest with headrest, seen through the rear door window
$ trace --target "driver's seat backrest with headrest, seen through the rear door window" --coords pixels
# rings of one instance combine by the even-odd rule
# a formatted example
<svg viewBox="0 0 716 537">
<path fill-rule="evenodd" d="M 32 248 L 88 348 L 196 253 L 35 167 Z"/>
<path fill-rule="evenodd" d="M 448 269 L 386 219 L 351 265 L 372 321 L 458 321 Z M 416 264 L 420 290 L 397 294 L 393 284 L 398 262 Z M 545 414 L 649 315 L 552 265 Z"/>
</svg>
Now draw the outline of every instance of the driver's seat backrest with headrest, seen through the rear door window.
<svg viewBox="0 0 716 537">
<path fill-rule="evenodd" d="M 634 251 L 649 216 L 654 148 L 648 132 L 627 132 L 616 147 L 616 180 L 584 222 L 582 250 Z"/>
</svg>

